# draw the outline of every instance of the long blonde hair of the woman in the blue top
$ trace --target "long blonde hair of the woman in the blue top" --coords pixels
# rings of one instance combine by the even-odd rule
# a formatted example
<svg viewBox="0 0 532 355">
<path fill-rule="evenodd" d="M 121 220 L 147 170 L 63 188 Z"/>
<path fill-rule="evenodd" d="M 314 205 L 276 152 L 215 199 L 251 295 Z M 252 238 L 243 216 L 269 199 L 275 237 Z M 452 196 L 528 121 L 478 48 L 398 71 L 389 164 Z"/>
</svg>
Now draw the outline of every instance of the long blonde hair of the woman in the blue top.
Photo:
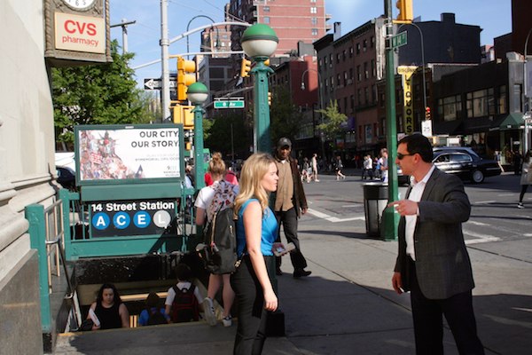
<svg viewBox="0 0 532 355">
<path fill-rule="evenodd" d="M 234 201 L 235 216 L 244 202 L 255 198 L 261 203 L 262 210 L 268 208 L 268 193 L 262 187 L 261 180 L 270 170 L 270 164 L 275 162 L 267 153 L 255 153 L 247 158 L 240 171 L 240 193 Z"/>
</svg>

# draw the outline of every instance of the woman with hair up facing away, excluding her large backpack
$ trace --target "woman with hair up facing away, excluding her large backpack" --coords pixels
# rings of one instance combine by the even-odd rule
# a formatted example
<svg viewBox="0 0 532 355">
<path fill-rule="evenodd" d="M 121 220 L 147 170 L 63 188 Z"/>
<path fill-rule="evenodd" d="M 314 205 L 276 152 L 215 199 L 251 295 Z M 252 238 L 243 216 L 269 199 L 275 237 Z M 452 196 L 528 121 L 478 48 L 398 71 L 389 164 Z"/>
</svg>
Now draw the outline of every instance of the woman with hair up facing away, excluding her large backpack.
<svg viewBox="0 0 532 355">
<path fill-rule="evenodd" d="M 235 197 L 239 194 L 239 186 L 232 185 L 225 181 L 225 162 L 222 160 L 222 154 L 215 153 L 208 163 L 208 173 L 214 183 L 210 186 L 203 187 L 196 198 L 196 225 L 207 225 L 213 220 L 215 212 L 230 207 Z M 206 229 L 207 230 L 207 229 Z M 208 278 L 207 297 L 205 297 L 205 318 L 208 324 L 215 326 L 217 324 L 215 314 L 216 293 L 223 284 L 223 327 L 231 327 L 231 307 L 235 300 L 235 293 L 231 288 L 231 274 L 215 275 L 210 274 Z"/>
</svg>

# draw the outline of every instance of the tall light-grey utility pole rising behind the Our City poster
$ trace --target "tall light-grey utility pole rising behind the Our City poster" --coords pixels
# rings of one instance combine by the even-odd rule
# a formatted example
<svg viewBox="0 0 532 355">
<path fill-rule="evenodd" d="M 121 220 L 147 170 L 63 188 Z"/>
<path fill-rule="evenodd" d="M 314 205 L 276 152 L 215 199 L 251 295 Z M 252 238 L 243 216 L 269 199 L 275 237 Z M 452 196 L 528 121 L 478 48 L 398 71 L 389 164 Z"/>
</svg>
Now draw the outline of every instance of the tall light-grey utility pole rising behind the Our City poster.
<svg viewBox="0 0 532 355">
<path fill-rule="evenodd" d="M 168 1 L 160 0 L 160 59 L 162 80 L 160 88 L 160 106 L 162 122 L 171 122 L 170 117 L 170 71 L 168 68 Z"/>
</svg>

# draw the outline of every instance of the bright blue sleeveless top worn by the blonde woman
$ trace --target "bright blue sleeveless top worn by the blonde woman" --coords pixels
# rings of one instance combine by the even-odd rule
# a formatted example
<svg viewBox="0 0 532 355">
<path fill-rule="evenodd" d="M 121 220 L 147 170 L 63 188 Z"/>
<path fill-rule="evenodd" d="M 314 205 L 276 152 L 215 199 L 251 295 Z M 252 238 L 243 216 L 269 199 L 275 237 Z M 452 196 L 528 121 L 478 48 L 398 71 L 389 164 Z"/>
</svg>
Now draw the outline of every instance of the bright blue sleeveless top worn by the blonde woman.
<svg viewBox="0 0 532 355">
<path fill-rule="evenodd" d="M 246 233 L 244 231 L 244 211 L 246 210 L 247 205 L 251 201 L 257 201 L 257 199 L 249 199 L 239 210 L 239 220 L 237 221 L 237 244 L 238 244 L 238 252 L 239 256 L 242 254 L 242 250 L 244 250 L 244 246 L 246 245 Z M 261 237 L 261 252 L 263 256 L 272 256 L 273 253 L 271 252 L 271 247 L 273 245 L 273 242 L 277 240 L 278 235 L 278 223 L 277 219 L 275 218 L 275 215 L 273 214 L 273 211 L 268 208 L 266 209 L 266 213 L 262 216 L 262 237 Z M 246 254 L 247 251 L 246 251 Z"/>
</svg>

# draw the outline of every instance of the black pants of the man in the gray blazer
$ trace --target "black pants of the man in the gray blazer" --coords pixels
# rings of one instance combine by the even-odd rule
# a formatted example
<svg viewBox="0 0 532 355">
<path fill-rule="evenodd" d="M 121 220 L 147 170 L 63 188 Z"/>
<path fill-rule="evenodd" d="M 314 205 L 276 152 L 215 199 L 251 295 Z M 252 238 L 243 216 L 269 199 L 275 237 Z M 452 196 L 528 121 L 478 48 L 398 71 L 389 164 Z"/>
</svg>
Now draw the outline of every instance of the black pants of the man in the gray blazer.
<svg viewBox="0 0 532 355">
<path fill-rule="evenodd" d="M 443 319 L 445 315 L 460 355 L 483 355 L 484 348 L 476 331 L 471 291 L 445 299 L 428 299 L 419 288 L 415 262 L 410 260 L 412 316 L 417 355 L 443 355 Z"/>
</svg>

